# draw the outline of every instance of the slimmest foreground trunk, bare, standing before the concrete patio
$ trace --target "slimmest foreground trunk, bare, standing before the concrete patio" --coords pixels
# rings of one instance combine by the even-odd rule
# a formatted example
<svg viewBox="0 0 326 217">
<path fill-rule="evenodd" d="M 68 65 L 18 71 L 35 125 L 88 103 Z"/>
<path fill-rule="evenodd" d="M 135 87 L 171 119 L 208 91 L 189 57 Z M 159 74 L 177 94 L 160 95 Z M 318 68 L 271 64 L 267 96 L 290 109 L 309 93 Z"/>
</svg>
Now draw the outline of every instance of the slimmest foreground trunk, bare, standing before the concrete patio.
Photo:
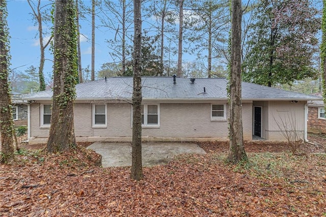
<svg viewBox="0 0 326 217">
<path fill-rule="evenodd" d="M 132 158 L 130 178 L 143 178 L 142 165 L 142 14 L 141 0 L 133 0 L 133 91 L 132 91 Z"/>
</svg>

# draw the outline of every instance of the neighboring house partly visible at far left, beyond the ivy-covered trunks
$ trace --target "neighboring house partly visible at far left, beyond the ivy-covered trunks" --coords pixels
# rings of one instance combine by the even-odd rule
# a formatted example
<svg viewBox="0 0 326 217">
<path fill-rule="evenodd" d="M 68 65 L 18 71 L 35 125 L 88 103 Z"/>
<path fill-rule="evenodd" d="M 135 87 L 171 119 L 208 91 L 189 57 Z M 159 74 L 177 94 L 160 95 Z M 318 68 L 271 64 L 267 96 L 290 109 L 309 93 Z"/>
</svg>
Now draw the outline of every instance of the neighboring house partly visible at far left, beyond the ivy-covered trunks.
<svg viewBox="0 0 326 217">
<path fill-rule="evenodd" d="M 28 125 L 28 106 L 22 97 L 19 93 L 12 93 L 12 116 L 15 126 Z"/>
</svg>

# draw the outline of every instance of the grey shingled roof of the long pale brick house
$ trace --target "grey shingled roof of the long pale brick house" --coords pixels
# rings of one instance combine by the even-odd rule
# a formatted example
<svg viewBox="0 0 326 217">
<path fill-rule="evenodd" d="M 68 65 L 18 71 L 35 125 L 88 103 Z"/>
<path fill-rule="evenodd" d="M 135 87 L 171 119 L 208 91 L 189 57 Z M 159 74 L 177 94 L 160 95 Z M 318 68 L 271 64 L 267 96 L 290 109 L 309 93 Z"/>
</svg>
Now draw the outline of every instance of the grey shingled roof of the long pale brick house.
<svg viewBox="0 0 326 217">
<path fill-rule="evenodd" d="M 226 100 L 226 78 L 142 77 L 143 100 Z M 111 77 L 76 85 L 76 101 L 131 99 L 132 77 Z M 26 100 L 50 100 L 52 91 L 25 96 Z M 242 100 L 320 100 L 319 97 L 242 82 Z"/>
</svg>

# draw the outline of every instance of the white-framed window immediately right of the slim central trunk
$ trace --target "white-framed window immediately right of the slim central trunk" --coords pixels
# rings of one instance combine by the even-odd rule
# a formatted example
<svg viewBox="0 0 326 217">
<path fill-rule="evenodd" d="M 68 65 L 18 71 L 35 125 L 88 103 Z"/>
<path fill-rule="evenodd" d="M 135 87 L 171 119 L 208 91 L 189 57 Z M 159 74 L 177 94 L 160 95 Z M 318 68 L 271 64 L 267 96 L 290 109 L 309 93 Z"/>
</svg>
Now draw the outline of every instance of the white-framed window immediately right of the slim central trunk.
<svg viewBox="0 0 326 217">
<path fill-rule="evenodd" d="M 159 106 L 143 104 L 142 105 L 142 125 L 158 126 L 159 125 Z"/>
</svg>

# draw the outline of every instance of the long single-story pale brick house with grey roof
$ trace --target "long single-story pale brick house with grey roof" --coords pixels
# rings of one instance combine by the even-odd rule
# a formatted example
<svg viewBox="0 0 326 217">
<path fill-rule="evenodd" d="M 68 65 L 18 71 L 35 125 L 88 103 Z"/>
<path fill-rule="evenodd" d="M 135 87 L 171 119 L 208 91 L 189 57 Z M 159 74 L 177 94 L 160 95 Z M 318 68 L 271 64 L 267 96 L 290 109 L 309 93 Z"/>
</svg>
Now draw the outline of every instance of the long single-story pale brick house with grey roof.
<svg viewBox="0 0 326 217">
<path fill-rule="evenodd" d="M 142 77 L 144 140 L 227 140 L 229 103 L 225 78 Z M 132 77 L 76 85 L 77 141 L 131 141 Z M 52 91 L 24 97 L 29 102 L 29 141 L 45 142 Z M 244 140 L 286 140 L 284 127 L 307 138 L 307 101 L 318 97 L 242 83 Z"/>
</svg>

